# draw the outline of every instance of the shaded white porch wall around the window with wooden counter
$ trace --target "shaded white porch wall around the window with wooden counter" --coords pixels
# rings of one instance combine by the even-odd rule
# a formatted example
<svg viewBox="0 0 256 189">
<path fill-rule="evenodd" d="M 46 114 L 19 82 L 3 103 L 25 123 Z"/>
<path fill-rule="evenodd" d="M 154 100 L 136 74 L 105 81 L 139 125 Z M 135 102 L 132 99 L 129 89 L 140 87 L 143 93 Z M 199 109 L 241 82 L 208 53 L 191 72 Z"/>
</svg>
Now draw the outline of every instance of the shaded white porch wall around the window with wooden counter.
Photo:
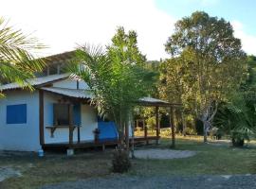
<svg viewBox="0 0 256 189">
<path fill-rule="evenodd" d="M 55 129 L 54 136 L 51 137 L 50 129 L 46 127 L 53 126 L 53 104 L 58 102 L 58 99 L 61 98 L 58 94 L 46 93 L 44 95 L 45 103 L 45 143 L 54 144 L 54 143 L 68 143 L 69 140 L 69 130 L 68 128 Z M 93 130 L 98 128 L 97 122 L 97 112 L 95 109 L 89 105 L 81 106 L 81 124 L 80 129 L 81 141 L 90 141 L 94 139 Z M 73 132 L 73 141 L 78 141 L 77 129 Z"/>
</svg>

